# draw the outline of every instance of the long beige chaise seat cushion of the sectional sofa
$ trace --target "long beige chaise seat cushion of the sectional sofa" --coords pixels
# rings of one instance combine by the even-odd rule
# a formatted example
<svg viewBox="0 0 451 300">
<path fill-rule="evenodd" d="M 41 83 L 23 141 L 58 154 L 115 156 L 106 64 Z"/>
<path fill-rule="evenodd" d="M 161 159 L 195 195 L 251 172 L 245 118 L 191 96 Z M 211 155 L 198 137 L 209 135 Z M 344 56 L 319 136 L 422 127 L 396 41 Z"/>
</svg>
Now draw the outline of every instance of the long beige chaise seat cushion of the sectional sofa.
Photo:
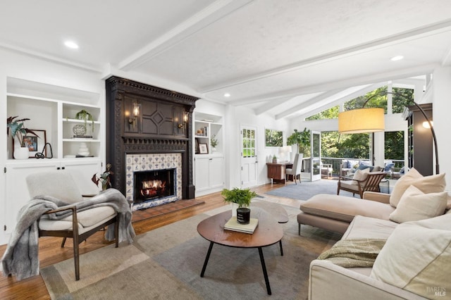
<svg viewBox="0 0 451 300">
<path fill-rule="evenodd" d="M 355 215 L 388 220 L 395 210 L 389 204 L 330 194 L 317 194 L 302 202 L 300 209 L 304 213 L 345 222 L 351 222 Z"/>
</svg>

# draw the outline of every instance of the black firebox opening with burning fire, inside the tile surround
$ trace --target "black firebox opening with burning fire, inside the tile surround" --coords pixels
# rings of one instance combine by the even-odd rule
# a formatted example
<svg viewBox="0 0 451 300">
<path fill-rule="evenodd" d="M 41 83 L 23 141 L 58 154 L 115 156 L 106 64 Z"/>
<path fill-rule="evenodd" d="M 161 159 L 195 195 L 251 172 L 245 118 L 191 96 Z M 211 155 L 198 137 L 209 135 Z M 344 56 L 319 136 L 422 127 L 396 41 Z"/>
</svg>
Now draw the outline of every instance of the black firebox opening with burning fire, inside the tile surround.
<svg viewBox="0 0 451 300">
<path fill-rule="evenodd" d="M 138 204 L 174 194 L 174 170 L 152 170 L 135 172 L 135 199 Z"/>
</svg>

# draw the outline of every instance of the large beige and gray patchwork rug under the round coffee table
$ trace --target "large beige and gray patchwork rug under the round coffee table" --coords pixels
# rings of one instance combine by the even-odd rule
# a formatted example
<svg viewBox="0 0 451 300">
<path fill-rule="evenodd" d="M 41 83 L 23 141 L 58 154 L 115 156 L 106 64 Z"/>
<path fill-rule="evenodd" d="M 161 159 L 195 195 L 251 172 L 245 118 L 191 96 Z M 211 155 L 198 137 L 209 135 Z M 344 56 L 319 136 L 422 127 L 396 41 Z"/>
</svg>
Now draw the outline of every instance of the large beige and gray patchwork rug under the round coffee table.
<svg viewBox="0 0 451 300">
<path fill-rule="evenodd" d="M 309 263 L 341 236 L 309 226 L 299 236 L 299 209 L 284 208 L 290 218 L 283 224 L 284 255 L 278 244 L 263 249 L 272 296 L 266 294 L 257 249 L 215 244 L 200 277 L 209 242 L 199 236 L 197 224 L 228 206 L 146 232 L 130 245 L 83 254 L 79 281 L 73 259 L 41 274 L 52 299 L 307 299 Z"/>
</svg>

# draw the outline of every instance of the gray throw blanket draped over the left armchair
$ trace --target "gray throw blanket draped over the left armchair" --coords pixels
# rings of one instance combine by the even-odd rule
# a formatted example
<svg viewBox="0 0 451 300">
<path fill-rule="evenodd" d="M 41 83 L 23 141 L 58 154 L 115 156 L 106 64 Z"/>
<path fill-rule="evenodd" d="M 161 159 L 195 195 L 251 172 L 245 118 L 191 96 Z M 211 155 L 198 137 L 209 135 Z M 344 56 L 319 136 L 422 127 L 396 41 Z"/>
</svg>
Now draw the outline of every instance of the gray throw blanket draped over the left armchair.
<svg viewBox="0 0 451 300">
<path fill-rule="evenodd" d="M 7 275 L 15 275 L 17 280 L 39 274 L 38 258 L 38 227 L 37 220 L 47 211 L 65 206 L 73 206 L 65 201 L 52 196 L 36 196 L 28 201 L 18 214 L 18 222 L 9 238 L 8 247 L 1 258 L 1 271 Z M 111 206 L 120 215 L 119 218 L 119 242 L 127 241 L 129 244 L 135 238 L 135 230 L 132 227 L 132 211 L 125 199 L 117 189 L 107 189 L 105 192 L 75 204 L 77 212 L 86 211 L 100 206 Z M 72 211 L 50 213 L 52 220 L 61 220 Z M 114 224 L 109 225 L 105 233 L 105 239 L 114 239 Z"/>
</svg>

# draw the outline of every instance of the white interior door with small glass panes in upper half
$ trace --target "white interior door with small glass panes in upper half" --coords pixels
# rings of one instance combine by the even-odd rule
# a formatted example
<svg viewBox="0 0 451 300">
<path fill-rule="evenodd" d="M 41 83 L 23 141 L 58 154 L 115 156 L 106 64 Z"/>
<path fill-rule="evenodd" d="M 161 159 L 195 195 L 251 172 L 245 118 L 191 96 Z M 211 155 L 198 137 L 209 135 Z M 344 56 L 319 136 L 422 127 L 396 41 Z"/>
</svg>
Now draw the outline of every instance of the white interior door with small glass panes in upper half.
<svg viewBox="0 0 451 300">
<path fill-rule="evenodd" d="M 241 187 L 257 185 L 257 127 L 241 126 Z"/>
</svg>

